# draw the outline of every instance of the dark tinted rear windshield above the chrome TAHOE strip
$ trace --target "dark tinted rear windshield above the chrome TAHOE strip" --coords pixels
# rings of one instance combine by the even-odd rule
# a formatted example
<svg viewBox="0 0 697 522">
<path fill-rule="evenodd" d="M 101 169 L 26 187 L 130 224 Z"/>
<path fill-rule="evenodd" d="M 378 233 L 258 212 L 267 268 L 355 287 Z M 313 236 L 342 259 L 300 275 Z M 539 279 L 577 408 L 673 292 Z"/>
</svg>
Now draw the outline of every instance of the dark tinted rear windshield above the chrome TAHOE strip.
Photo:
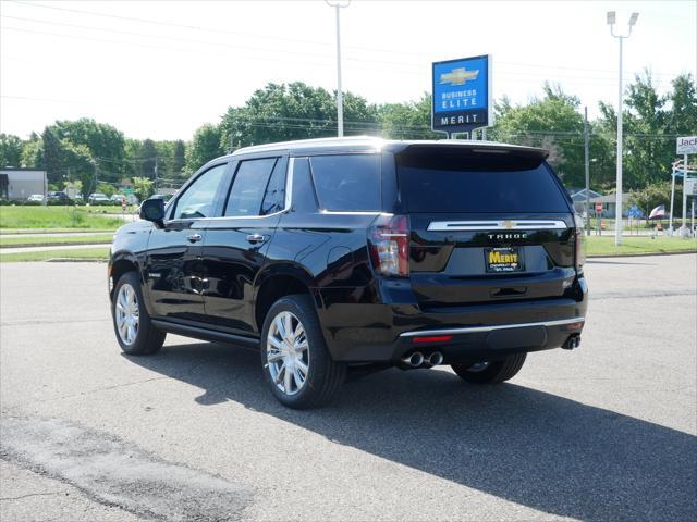
<svg viewBox="0 0 697 522">
<path fill-rule="evenodd" d="M 466 158 L 398 157 L 408 212 L 568 212 L 551 170 L 529 161 L 468 165 Z M 539 162 L 535 162 L 539 163 Z"/>
</svg>

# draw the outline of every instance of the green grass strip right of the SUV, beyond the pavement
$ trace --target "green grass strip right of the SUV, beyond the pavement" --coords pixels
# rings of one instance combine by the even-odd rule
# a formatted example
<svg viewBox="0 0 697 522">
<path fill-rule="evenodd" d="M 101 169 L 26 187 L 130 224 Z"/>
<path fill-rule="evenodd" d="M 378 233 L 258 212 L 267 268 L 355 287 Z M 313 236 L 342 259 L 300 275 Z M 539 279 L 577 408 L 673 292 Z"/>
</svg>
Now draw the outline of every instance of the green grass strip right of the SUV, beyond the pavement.
<svg viewBox="0 0 697 522">
<path fill-rule="evenodd" d="M 622 246 L 615 247 L 614 236 L 586 236 L 586 252 L 588 257 L 697 252 L 697 239 L 667 236 L 657 236 L 655 239 L 647 236 L 623 237 Z"/>
</svg>

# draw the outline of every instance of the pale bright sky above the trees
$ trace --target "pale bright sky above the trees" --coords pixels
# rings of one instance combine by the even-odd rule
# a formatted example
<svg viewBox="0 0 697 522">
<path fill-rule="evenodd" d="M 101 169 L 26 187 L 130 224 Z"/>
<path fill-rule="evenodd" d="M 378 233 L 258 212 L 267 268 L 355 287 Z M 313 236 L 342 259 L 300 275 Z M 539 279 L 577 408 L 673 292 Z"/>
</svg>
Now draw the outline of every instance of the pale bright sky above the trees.
<svg viewBox="0 0 697 522">
<path fill-rule="evenodd" d="M 526 103 L 559 83 L 592 119 L 617 100 L 608 11 L 621 33 L 639 13 L 625 84 L 645 69 L 662 92 L 697 77 L 697 0 L 353 0 L 340 10 L 343 90 L 416 100 L 431 62 L 491 54 L 494 98 Z M 323 0 L 0 0 L 0 132 L 91 117 L 131 138 L 188 140 L 269 82 L 335 89 L 335 28 Z"/>
</svg>

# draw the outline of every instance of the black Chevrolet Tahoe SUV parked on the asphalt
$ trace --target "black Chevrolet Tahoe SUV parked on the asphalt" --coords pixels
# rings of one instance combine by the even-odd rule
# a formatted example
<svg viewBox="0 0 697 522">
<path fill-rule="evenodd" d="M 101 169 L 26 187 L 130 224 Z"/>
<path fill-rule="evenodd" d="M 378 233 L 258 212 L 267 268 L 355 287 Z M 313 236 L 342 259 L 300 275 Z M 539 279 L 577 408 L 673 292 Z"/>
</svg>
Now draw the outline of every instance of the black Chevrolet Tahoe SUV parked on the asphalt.
<svg viewBox="0 0 697 522">
<path fill-rule="evenodd" d="M 331 399 L 353 368 L 506 381 L 584 326 L 583 226 L 546 157 L 360 137 L 210 161 L 117 233 L 117 339 L 133 355 L 168 332 L 246 344 L 293 408 Z"/>
</svg>

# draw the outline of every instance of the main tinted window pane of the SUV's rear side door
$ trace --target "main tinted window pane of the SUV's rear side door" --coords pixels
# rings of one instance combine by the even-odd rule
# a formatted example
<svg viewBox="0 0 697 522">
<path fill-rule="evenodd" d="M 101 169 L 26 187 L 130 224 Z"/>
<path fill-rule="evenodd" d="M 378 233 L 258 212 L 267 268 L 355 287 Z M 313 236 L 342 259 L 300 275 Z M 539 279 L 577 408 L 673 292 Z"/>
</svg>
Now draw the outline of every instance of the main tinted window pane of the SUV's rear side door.
<svg viewBox="0 0 697 522">
<path fill-rule="evenodd" d="M 277 158 L 240 163 L 228 196 L 224 215 L 259 215 L 261 200 Z"/>
</svg>

